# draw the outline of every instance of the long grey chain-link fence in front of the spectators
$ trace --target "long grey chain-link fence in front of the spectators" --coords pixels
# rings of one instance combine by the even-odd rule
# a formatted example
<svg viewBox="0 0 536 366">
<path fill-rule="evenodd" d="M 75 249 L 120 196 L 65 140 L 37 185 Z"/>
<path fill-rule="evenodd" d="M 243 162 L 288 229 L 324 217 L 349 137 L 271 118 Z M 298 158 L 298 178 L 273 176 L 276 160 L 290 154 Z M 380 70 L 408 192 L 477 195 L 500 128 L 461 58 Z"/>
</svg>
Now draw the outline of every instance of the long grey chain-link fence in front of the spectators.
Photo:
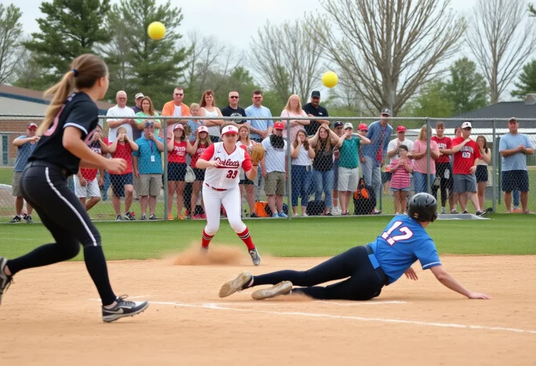
<svg viewBox="0 0 536 366">
<path fill-rule="evenodd" d="M 20 197 L 18 181 L 38 143 L 29 123 L 39 123 L 41 118 L 0 115 L 0 222 L 24 222 L 32 213 Z M 129 117 L 114 117 L 124 123 L 112 129 L 110 117 L 100 118 L 103 128 L 90 147 L 107 157 L 124 158 L 128 169 L 123 174 L 80 169 L 69 178 L 91 218 L 205 218 L 204 170 L 196 169 L 195 162 L 211 141 L 196 142 L 188 117 L 144 117 L 152 123 L 137 127 L 142 134 L 137 139 Z M 244 118 L 248 119 L 278 121 Z M 249 181 L 241 171 L 244 218 L 268 218 L 274 211 L 290 218 L 403 213 L 415 192 L 436 195 L 440 213 L 476 213 L 487 208 L 499 213 L 536 211 L 536 198 L 530 195 L 530 185 L 536 184 L 536 155 L 528 149 L 536 144 L 535 120 L 475 119 L 470 130 L 459 129 L 463 119 L 327 120 L 329 124 L 320 125 L 315 135 L 291 130 L 295 123 L 288 121 L 286 148 L 281 139 L 265 138 L 267 155 L 258 177 Z M 11 130 L 2 128 L 1 121 L 10 121 Z M 16 128 L 13 121 L 20 121 Z M 509 133 L 515 127 L 519 133 Z M 477 156 L 481 159 L 474 166 Z M 225 216 L 223 208 L 221 215 Z M 32 219 L 38 220 L 35 215 Z"/>
</svg>

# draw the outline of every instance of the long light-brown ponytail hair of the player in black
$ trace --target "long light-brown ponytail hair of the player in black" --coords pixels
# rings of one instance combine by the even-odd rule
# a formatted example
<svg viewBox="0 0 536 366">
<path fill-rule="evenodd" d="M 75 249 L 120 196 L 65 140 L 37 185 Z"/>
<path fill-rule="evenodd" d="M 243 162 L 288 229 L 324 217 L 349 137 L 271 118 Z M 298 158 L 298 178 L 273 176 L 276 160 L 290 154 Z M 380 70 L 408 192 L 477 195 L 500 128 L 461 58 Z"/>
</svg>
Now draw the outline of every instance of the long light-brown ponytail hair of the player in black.
<svg viewBox="0 0 536 366">
<path fill-rule="evenodd" d="M 70 70 L 61 80 L 47 89 L 43 96 L 52 96 L 50 106 L 47 108 L 45 119 L 37 129 L 37 135 L 43 135 L 50 128 L 54 118 L 65 104 L 67 97 L 75 89 L 89 89 L 98 79 L 108 74 L 106 63 L 101 57 L 94 54 L 82 54 L 70 64 Z"/>
</svg>

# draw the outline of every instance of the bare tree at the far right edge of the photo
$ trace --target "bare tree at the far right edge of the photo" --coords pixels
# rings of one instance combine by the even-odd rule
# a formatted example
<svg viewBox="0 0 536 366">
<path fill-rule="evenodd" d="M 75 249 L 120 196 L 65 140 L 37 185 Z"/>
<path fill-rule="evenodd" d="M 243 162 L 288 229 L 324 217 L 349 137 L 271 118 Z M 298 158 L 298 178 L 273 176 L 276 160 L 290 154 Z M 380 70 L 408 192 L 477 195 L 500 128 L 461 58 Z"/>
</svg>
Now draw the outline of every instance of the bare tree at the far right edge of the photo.
<svg viewBox="0 0 536 366">
<path fill-rule="evenodd" d="M 535 23 L 528 20 L 526 2 L 479 0 L 467 42 L 489 83 L 491 103 L 496 103 L 536 49 Z"/>
</svg>

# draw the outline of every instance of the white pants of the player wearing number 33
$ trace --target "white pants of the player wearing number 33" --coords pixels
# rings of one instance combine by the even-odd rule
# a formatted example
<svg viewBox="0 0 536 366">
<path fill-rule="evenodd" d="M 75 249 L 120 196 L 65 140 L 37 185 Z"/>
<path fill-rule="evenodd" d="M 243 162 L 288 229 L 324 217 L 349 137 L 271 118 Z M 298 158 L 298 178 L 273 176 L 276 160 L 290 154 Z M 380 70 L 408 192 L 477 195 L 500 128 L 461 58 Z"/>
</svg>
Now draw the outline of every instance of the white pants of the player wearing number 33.
<svg viewBox="0 0 536 366">
<path fill-rule="evenodd" d="M 229 224 L 237 234 L 246 230 L 240 217 L 240 191 L 238 186 L 230 190 L 213 190 L 203 183 L 204 211 L 207 214 L 207 226 L 204 232 L 214 236 L 220 227 L 220 208 L 223 205 Z"/>
</svg>

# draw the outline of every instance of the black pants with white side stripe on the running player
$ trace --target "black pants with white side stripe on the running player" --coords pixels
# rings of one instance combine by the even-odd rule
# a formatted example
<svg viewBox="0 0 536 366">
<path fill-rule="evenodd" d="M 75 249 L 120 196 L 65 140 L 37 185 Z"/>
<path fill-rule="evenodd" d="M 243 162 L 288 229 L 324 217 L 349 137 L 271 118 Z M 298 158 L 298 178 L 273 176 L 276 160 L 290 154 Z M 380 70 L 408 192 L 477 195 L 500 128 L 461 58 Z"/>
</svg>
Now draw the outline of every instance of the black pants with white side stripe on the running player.
<svg viewBox="0 0 536 366">
<path fill-rule="evenodd" d="M 76 257 L 80 243 L 84 261 L 103 305 L 116 300 L 99 234 L 86 209 L 70 190 L 65 171 L 46 162 L 30 162 L 21 176 L 24 199 L 34 207 L 55 243 L 41 245 L 28 254 L 8 261 L 13 275 L 20 270 L 47 266 Z"/>
</svg>

